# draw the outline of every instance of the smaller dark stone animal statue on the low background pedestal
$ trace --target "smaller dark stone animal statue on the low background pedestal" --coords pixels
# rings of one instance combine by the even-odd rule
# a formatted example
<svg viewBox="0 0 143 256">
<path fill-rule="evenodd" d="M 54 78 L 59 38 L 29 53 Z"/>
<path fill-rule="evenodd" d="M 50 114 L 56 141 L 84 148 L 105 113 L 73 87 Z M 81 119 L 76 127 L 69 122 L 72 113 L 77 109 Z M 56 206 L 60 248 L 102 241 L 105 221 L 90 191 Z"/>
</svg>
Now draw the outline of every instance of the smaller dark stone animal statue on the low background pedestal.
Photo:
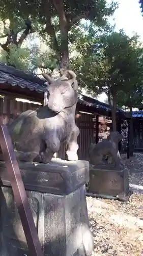
<svg viewBox="0 0 143 256">
<path fill-rule="evenodd" d="M 124 164 L 118 150 L 118 143 L 123 139 L 119 132 L 110 132 L 107 139 L 102 140 L 97 144 L 91 144 L 90 147 L 90 163 L 98 164 L 103 158 L 111 155 L 118 168 L 123 168 Z"/>
</svg>

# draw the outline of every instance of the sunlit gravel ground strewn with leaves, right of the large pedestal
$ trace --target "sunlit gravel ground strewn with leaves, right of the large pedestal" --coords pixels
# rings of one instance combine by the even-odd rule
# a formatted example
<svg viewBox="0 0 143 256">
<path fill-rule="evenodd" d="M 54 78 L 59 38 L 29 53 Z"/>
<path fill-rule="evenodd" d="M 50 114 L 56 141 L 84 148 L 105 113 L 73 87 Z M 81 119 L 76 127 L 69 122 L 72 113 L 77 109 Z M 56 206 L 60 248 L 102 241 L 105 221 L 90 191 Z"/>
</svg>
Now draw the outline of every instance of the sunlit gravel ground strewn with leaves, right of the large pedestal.
<svg viewBox="0 0 143 256">
<path fill-rule="evenodd" d="M 134 154 L 126 166 L 134 191 L 129 202 L 87 197 L 93 256 L 143 256 L 143 154 Z"/>
</svg>

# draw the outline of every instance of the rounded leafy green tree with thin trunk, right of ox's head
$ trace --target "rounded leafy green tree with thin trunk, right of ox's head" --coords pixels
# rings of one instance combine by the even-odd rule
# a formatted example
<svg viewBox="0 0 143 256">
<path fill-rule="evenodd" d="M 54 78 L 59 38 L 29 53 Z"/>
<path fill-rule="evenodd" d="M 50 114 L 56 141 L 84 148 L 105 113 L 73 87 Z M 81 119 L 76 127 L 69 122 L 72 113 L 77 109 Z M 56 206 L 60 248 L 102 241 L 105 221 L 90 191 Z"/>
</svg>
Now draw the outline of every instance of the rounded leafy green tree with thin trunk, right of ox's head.
<svg viewBox="0 0 143 256">
<path fill-rule="evenodd" d="M 109 26 L 103 31 L 89 27 L 76 42 L 80 55 L 73 60 L 81 86 L 93 95 L 105 92 L 116 129 L 116 107 L 135 106 L 142 100 L 142 48 L 137 35 L 128 37 Z M 79 36 L 79 38 L 80 38 Z M 81 44 L 80 44 L 81 42 Z"/>
</svg>

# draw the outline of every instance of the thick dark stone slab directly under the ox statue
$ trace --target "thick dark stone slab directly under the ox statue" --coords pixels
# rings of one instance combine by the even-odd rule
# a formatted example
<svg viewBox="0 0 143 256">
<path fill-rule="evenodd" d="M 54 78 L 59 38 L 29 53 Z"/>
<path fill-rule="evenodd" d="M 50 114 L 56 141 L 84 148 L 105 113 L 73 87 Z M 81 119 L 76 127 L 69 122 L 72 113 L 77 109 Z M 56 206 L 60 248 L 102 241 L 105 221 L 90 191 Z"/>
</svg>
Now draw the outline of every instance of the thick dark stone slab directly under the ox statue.
<svg viewBox="0 0 143 256">
<path fill-rule="evenodd" d="M 56 195 L 68 195 L 89 182 L 88 161 L 66 161 L 53 158 L 50 163 L 19 162 L 22 180 L 27 190 Z M 0 161 L 0 185 L 10 185 L 5 162 Z"/>
</svg>

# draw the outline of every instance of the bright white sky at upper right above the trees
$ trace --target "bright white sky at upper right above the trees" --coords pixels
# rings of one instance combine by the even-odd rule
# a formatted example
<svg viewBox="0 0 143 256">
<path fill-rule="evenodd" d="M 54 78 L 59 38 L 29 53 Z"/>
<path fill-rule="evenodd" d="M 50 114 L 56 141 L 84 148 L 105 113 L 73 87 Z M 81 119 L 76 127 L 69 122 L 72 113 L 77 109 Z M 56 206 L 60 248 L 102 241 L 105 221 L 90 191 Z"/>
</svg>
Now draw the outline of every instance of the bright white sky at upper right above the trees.
<svg viewBox="0 0 143 256">
<path fill-rule="evenodd" d="M 107 3 L 110 3 L 110 0 L 107 0 Z M 136 32 L 140 36 L 143 45 L 143 17 L 141 16 L 138 0 L 119 0 L 118 3 L 119 8 L 109 18 L 109 22 L 111 24 L 116 23 L 116 31 L 124 29 L 129 36 Z M 98 100 L 104 101 L 105 98 L 105 94 L 102 94 L 98 97 Z"/>
</svg>

